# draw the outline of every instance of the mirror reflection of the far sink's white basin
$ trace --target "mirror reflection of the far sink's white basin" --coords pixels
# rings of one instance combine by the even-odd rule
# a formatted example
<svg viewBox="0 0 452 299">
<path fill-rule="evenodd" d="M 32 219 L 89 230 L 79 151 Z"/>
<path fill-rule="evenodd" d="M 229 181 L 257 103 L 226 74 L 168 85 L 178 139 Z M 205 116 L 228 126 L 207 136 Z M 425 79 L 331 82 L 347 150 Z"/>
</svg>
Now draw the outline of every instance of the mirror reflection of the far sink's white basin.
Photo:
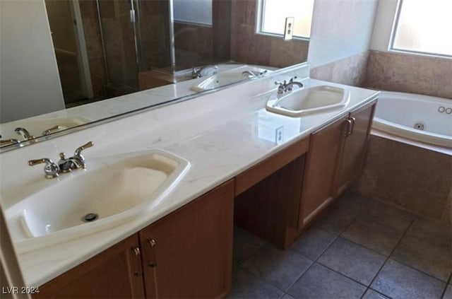
<svg viewBox="0 0 452 299">
<path fill-rule="evenodd" d="M 194 91 L 205 91 L 205 90 L 211 90 L 214 88 L 218 88 L 220 86 L 226 86 L 231 83 L 236 83 L 242 80 L 245 80 L 246 78 L 249 78 L 244 75 L 244 71 L 251 71 L 256 74 L 260 74 L 263 71 L 270 72 L 270 70 L 267 69 L 261 69 L 256 66 L 239 66 L 234 69 L 230 69 L 228 71 L 218 71 L 218 74 L 215 74 L 213 76 L 209 77 L 201 77 L 198 79 L 196 85 L 191 87 L 191 90 Z"/>
</svg>

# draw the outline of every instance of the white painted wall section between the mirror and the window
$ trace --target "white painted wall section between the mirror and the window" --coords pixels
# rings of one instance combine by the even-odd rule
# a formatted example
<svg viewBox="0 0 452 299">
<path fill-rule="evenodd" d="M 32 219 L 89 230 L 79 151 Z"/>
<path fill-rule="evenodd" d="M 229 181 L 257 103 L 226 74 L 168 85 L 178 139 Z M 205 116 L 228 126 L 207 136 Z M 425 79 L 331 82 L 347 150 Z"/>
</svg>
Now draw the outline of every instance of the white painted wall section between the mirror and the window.
<svg viewBox="0 0 452 299">
<path fill-rule="evenodd" d="M 369 50 L 378 0 L 315 0 L 311 67 Z"/>
</svg>

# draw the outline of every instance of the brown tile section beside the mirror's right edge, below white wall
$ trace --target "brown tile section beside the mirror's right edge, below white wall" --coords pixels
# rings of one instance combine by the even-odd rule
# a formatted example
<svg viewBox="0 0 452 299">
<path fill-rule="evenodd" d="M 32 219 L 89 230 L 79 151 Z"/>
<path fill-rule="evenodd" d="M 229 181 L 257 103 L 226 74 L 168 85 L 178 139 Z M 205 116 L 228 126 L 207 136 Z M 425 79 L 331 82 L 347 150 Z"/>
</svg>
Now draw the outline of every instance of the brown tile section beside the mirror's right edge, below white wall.
<svg viewBox="0 0 452 299">
<path fill-rule="evenodd" d="M 311 69 L 311 78 L 360 86 L 365 80 L 369 52 L 362 52 Z"/>
</svg>

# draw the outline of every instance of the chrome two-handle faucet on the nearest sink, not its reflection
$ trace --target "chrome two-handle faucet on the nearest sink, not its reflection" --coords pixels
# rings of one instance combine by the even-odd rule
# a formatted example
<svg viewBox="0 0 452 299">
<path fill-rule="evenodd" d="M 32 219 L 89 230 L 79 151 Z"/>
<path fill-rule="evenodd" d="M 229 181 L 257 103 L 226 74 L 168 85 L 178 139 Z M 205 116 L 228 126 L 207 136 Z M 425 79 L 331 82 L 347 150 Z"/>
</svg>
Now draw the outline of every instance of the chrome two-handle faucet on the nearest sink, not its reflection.
<svg viewBox="0 0 452 299">
<path fill-rule="evenodd" d="M 82 156 L 81 152 L 85 148 L 90 148 L 91 146 L 94 146 L 93 141 L 83 144 L 83 146 L 80 146 L 76 149 L 73 157 L 71 158 L 66 158 L 64 156 L 64 153 L 60 153 L 60 160 L 58 161 L 58 163 L 54 163 L 49 158 L 41 158 L 37 160 L 29 160 L 28 165 L 34 166 L 37 164 L 45 163 L 45 177 L 47 177 L 47 179 L 53 179 L 55 177 L 58 177 L 60 173 L 70 172 L 74 169 L 86 168 L 85 157 Z"/>
</svg>

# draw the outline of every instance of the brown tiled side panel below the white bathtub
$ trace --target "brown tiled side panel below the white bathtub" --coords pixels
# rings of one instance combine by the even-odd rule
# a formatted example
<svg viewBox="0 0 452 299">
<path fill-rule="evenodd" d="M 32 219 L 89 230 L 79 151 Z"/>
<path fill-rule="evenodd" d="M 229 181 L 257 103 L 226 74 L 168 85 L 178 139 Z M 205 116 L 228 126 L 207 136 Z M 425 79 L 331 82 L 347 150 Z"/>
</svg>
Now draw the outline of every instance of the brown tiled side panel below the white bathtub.
<svg viewBox="0 0 452 299">
<path fill-rule="evenodd" d="M 371 135 L 355 192 L 435 221 L 451 223 L 452 158 Z"/>
</svg>

